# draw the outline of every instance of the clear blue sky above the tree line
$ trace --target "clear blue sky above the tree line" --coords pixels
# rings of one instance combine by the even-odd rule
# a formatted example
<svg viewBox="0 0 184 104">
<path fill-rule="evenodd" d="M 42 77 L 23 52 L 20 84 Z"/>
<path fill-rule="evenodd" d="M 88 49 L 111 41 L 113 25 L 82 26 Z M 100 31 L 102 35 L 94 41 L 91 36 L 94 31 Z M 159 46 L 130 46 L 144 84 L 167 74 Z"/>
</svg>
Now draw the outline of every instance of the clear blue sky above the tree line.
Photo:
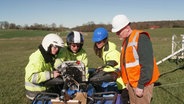
<svg viewBox="0 0 184 104">
<path fill-rule="evenodd" d="M 184 0 L 0 0 L 0 21 L 16 25 L 76 27 L 110 24 L 118 14 L 131 22 L 184 20 Z"/>
</svg>

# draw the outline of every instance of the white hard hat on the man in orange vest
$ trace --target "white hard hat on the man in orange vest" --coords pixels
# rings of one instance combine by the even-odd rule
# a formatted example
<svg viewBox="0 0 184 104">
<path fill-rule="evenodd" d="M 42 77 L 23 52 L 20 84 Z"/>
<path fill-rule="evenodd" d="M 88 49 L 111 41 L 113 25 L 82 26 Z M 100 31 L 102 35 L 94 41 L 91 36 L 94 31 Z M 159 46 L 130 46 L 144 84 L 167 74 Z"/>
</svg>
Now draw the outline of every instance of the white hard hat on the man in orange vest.
<svg viewBox="0 0 184 104">
<path fill-rule="evenodd" d="M 116 15 L 113 19 L 112 19 L 112 32 L 118 32 L 119 30 L 121 30 L 122 28 L 124 28 L 125 26 L 127 26 L 129 24 L 129 20 L 125 15 Z"/>
</svg>

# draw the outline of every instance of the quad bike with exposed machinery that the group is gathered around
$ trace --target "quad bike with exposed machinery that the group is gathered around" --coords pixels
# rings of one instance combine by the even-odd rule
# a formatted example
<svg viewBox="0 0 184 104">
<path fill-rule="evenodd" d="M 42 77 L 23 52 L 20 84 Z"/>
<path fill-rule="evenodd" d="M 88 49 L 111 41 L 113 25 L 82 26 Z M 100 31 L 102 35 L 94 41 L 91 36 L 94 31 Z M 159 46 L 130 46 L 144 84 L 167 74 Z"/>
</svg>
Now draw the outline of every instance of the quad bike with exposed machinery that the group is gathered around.
<svg viewBox="0 0 184 104">
<path fill-rule="evenodd" d="M 87 78 L 85 65 L 81 61 L 64 61 L 57 68 L 63 79 L 61 93 L 40 93 L 35 97 L 33 104 L 104 104 L 105 100 L 113 104 L 116 101 L 116 92 L 95 92 L 93 85 L 103 81 L 115 81 L 117 75 L 114 72 L 104 72 L 103 68 L 116 64 L 109 61 Z"/>
</svg>

